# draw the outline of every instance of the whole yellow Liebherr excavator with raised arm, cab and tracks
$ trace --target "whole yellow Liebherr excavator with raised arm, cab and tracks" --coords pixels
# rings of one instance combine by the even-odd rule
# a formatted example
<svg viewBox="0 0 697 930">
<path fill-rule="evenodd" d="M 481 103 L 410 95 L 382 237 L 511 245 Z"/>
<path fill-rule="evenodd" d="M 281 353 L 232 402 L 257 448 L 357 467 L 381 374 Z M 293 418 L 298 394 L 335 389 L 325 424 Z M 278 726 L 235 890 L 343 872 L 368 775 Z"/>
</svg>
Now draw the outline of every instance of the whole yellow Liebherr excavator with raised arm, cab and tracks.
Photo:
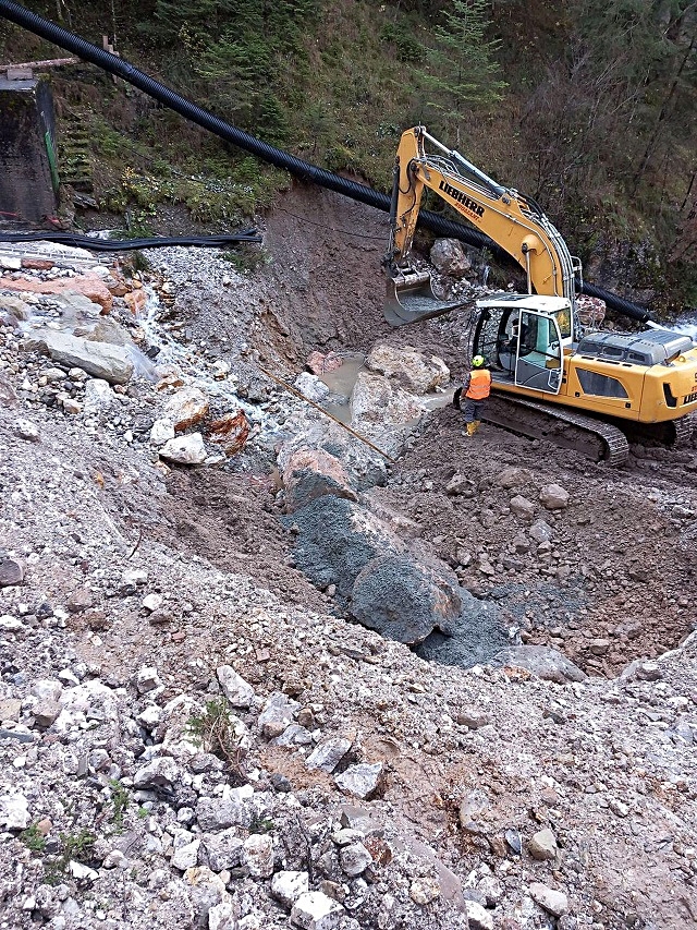
<svg viewBox="0 0 697 930">
<path fill-rule="evenodd" d="M 426 150 L 436 149 L 436 153 Z M 472 353 L 484 355 L 493 394 L 485 419 L 621 464 L 627 437 L 667 445 L 692 436 L 697 349 L 656 324 L 640 333 L 586 329 L 578 315 L 582 267 L 539 206 L 498 184 L 424 126 L 403 133 L 395 159 L 384 315 L 393 326 L 439 316 L 448 303 L 409 261 L 424 189 L 485 232 L 527 276 L 526 294 L 476 302 Z"/>
</svg>

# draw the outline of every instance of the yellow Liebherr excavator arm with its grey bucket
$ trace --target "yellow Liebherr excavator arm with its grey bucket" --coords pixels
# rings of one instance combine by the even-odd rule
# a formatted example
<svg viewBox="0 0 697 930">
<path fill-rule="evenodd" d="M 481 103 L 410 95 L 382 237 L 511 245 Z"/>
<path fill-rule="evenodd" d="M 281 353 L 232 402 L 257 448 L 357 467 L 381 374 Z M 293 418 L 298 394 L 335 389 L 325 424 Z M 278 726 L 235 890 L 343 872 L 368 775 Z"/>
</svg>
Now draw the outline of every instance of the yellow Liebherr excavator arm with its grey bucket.
<svg viewBox="0 0 697 930">
<path fill-rule="evenodd" d="M 442 154 L 427 154 L 426 143 Z M 394 162 L 386 317 L 400 326 L 447 313 L 432 292 L 430 275 L 409 264 L 409 253 L 424 194 L 435 191 L 473 226 L 511 255 L 527 275 L 528 292 L 564 297 L 574 302 L 580 263 L 537 204 L 498 184 L 458 152 L 448 149 L 415 126 L 402 134 Z"/>
</svg>

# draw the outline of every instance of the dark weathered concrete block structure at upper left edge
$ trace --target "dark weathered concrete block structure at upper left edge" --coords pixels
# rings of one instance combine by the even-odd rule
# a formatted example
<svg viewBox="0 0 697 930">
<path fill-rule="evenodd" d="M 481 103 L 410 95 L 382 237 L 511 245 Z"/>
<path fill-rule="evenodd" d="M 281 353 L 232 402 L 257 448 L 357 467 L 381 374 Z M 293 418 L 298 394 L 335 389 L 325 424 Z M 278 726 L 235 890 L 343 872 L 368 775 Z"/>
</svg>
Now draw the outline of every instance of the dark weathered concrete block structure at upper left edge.
<svg viewBox="0 0 697 930">
<path fill-rule="evenodd" d="M 56 213 L 58 171 L 48 78 L 0 77 L 0 220 Z"/>
</svg>

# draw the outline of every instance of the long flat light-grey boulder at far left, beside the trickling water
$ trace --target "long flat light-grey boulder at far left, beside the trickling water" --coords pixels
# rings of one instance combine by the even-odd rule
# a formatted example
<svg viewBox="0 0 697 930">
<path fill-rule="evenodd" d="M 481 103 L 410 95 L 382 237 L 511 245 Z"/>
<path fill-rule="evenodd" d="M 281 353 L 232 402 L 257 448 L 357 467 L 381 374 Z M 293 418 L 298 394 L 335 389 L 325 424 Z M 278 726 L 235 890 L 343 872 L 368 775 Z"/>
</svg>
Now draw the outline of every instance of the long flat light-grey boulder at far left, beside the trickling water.
<svg viewBox="0 0 697 930">
<path fill-rule="evenodd" d="M 36 349 L 69 369 L 82 369 L 110 384 L 126 384 L 133 376 L 133 361 L 125 347 L 95 342 L 57 329 L 35 329 L 26 340 Z"/>
</svg>

